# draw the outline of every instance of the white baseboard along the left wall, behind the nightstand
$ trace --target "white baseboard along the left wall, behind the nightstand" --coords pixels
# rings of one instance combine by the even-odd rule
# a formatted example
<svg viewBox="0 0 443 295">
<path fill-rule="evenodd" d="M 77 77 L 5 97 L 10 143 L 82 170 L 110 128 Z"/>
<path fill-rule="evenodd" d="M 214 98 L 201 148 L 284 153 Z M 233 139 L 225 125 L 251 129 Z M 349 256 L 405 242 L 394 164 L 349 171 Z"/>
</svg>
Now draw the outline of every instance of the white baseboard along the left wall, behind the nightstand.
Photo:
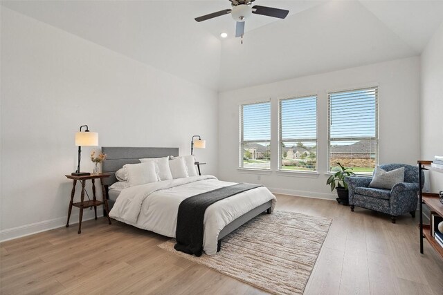
<svg viewBox="0 0 443 295">
<path fill-rule="evenodd" d="M 98 210 L 97 216 L 103 216 L 103 211 Z M 79 214 L 71 214 L 69 218 L 69 225 L 78 224 Z M 0 231 L 0 242 L 5 242 L 7 240 L 13 240 L 15 238 L 21 238 L 24 236 L 30 236 L 32 234 L 37 234 L 42 231 L 48 231 L 50 229 L 57 229 L 59 227 L 66 226 L 66 219 L 68 216 L 55 218 L 51 220 L 44 220 L 40 222 L 31 223 L 30 225 L 21 225 L 19 227 L 13 227 L 12 229 L 4 229 Z M 82 221 L 91 220 L 95 218 L 94 211 L 84 211 Z"/>
</svg>

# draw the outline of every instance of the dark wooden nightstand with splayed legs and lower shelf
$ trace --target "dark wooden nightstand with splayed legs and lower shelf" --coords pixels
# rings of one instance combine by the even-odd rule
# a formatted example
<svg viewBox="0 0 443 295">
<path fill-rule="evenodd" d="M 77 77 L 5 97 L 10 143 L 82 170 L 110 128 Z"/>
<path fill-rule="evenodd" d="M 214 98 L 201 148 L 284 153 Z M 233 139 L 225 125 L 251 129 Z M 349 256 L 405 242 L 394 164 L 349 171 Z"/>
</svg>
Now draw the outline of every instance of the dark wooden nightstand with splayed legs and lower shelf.
<svg viewBox="0 0 443 295">
<path fill-rule="evenodd" d="M 73 186 L 71 191 L 71 202 L 69 202 L 69 211 L 68 211 L 68 221 L 66 222 L 66 227 L 69 227 L 69 218 L 71 217 L 71 211 L 72 207 L 78 207 L 80 209 L 80 215 L 78 218 L 78 234 L 82 233 L 82 218 L 83 218 L 83 209 L 94 207 L 94 212 L 96 213 L 96 219 L 97 219 L 97 206 L 100 206 L 101 204 L 105 204 L 105 209 L 107 212 L 109 212 L 108 209 L 108 201 L 106 199 L 106 191 L 105 191 L 105 185 L 103 185 L 103 178 L 108 178 L 111 175 L 111 173 L 100 173 L 97 175 L 86 175 L 86 176 L 74 176 L 74 175 L 65 175 L 66 178 L 73 180 Z M 103 200 L 99 201 L 96 198 L 96 179 L 100 179 L 100 184 L 102 186 L 102 196 Z M 74 203 L 74 195 L 75 195 L 75 184 L 77 184 L 77 180 L 79 180 L 82 184 L 82 193 L 80 195 L 80 202 Z M 87 180 L 92 181 L 92 194 L 93 194 L 93 200 L 84 200 L 84 186 L 86 184 Z M 111 218 L 108 217 L 109 225 L 111 224 Z"/>
</svg>

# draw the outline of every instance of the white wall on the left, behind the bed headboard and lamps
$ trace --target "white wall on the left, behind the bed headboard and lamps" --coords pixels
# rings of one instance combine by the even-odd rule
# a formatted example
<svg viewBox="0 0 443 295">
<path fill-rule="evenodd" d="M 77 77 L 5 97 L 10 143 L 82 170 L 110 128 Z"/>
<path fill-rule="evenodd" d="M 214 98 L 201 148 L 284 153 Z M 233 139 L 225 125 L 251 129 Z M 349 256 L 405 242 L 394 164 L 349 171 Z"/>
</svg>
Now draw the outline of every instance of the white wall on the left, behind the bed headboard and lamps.
<svg viewBox="0 0 443 295">
<path fill-rule="evenodd" d="M 77 166 L 82 124 L 100 146 L 178 146 L 181 154 L 199 134 L 207 144 L 195 154 L 208 162 L 204 173 L 217 172 L 215 91 L 2 8 L 2 240 L 66 223 L 72 182 L 64 175 Z M 90 151 L 82 171 L 93 168 Z M 74 208 L 71 221 L 77 216 Z"/>
</svg>

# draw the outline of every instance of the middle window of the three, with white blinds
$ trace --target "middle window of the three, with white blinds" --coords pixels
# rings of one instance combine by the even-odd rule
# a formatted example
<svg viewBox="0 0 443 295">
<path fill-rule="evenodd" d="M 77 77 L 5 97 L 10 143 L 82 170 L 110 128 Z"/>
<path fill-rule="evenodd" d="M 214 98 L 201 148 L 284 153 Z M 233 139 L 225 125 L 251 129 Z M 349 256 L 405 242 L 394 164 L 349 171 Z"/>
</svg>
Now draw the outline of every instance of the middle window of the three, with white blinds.
<svg viewBox="0 0 443 295">
<path fill-rule="evenodd" d="M 317 97 L 280 100 L 280 169 L 316 171 Z"/>
</svg>

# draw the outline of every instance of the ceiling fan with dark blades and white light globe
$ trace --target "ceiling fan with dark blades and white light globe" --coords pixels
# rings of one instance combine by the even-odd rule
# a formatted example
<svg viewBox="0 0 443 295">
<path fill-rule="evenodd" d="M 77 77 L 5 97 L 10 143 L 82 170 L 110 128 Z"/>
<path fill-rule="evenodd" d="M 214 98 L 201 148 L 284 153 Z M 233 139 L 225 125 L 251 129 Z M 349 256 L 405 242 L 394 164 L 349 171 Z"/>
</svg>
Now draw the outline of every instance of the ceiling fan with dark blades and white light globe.
<svg viewBox="0 0 443 295">
<path fill-rule="evenodd" d="M 278 17 L 279 19 L 284 19 L 287 17 L 289 10 L 283 10 L 278 8 L 266 7 L 266 6 L 251 6 L 255 0 L 228 0 L 231 3 L 232 9 L 220 10 L 217 12 L 210 13 L 209 15 L 203 15 L 201 17 L 196 17 L 195 20 L 206 21 L 208 19 L 213 19 L 214 17 L 221 17 L 221 15 L 230 14 L 237 25 L 235 27 L 235 37 L 243 37 L 244 34 L 244 21 L 252 14 L 255 15 L 266 15 L 268 17 Z"/>
</svg>

